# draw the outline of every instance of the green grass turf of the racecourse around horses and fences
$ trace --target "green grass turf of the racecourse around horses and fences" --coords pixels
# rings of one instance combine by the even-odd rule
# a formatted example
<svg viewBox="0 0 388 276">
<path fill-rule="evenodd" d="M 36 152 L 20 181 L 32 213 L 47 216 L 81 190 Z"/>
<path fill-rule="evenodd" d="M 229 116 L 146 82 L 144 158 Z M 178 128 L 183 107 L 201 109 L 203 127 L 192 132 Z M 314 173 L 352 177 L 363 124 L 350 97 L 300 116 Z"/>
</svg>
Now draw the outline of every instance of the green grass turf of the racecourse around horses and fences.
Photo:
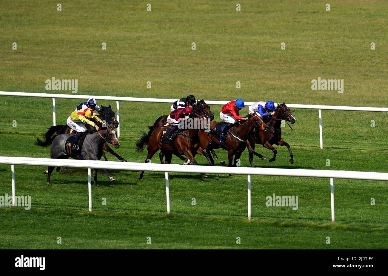
<svg viewBox="0 0 388 276">
<path fill-rule="evenodd" d="M 54 76 L 78 79 L 78 94 L 85 95 L 193 93 L 205 100 L 388 106 L 386 1 L 335 1 L 329 12 L 319 1 L 244 1 L 241 12 L 230 1 L 154 1 L 151 12 L 142 1 L 67 2 L 61 12 L 56 4 L 2 2 L 0 90 L 71 94 L 45 90 L 45 80 Z M 280 50 L 281 42 L 286 50 Z M 370 50 L 371 42 L 376 50 Z M 344 93 L 311 90 L 311 80 L 319 76 L 343 78 Z M 57 99 L 57 123 L 64 124 L 79 102 Z M 146 153 L 136 153 L 134 143 L 169 106 L 120 102 L 117 152 L 144 162 Z M 215 120 L 220 108 L 211 106 Z M 0 155 L 49 157 L 49 149 L 33 142 L 52 125 L 51 99 L 2 96 L 0 111 Z M 257 167 L 387 172 L 385 113 L 322 111 L 321 150 L 318 112 L 292 112 L 294 131 L 286 126 L 283 138 L 293 149 L 294 165 L 287 149 L 278 147 L 274 163 L 255 158 Z M 272 156 L 267 149 L 257 151 Z M 226 160 L 225 151 L 217 154 L 216 161 Z M 196 159 L 207 164 L 203 156 Z M 249 165 L 246 152 L 241 165 Z M 15 170 L 16 193 L 30 195 L 32 207 L 0 208 L 0 248 L 388 248 L 383 181 L 335 179 L 331 223 L 329 179 L 252 176 L 248 221 L 244 175 L 209 174 L 202 180 L 197 174 L 171 174 L 167 215 L 163 173 L 145 172 L 139 181 L 139 172 L 111 171 L 116 181 L 109 182 L 99 172 L 90 213 L 86 170 L 73 169 L 72 176 L 64 169 L 54 172 L 50 186 L 43 167 Z M 9 165 L 0 166 L 0 195 L 5 193 L 11 194 Z M 298 210 L 266 207 L 265 197 L 273 193 L 298 196 Z"/>
</svg>

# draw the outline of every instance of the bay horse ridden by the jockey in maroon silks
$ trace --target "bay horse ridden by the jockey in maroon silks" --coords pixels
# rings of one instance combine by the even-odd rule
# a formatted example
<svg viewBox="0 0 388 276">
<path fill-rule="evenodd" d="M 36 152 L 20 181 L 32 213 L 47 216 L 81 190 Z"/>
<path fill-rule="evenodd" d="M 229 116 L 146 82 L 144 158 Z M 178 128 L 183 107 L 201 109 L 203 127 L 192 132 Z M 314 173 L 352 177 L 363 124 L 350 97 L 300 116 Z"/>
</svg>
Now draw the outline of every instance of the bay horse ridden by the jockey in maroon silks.
<svg viewBox="0 0 388 276">
<path fill-rule="evenodd" d="M 203 118 L 204 115 L 199 116 Z M 191 118 L 191 120 L 193 120 Z M 206 120 L 207 121 L 207 120 Z M 151 137 L 149 137 L 148 141 L 145 144 L 147 146 L 147 158 L 145 159 L 145 163 L 149 163 L 151 161 L 152 156 L 160 149 L 161 152 L 166 157 L 165 164 L 171 163 L 172 154 L 180 154 L 185 155 L 189 160 L 194 164 L 198 165 L 197 161 L 194 159 L 194 156 L 198 154 L 204 155 L 208 161 L 210 162 L 208 154 L 206 154 L 201 148 L 199 148 L 199 137 L 198 131 L 199 128 L 204 128 L 204 125 L 198 123 L 198 120 L 194 120 L 196 125 L 194 128 L 190 128 L 187 130 L 181 130 L 178 135 L 173 140 L 172 144 L 162 143 L 161 137 L 163 135 L 163 131 L 165 131 L 166 127 L 157 127 L 152 131 Z M 144 148 L 143 144 L 137 145 L 137 151 L 142 151 Z M 144 171 L 141 172 L 139 179 L 142 179 L 144 175 Z M 203 178 L 207 177 L 206 174 L 201 174 Z"/>
</svg>

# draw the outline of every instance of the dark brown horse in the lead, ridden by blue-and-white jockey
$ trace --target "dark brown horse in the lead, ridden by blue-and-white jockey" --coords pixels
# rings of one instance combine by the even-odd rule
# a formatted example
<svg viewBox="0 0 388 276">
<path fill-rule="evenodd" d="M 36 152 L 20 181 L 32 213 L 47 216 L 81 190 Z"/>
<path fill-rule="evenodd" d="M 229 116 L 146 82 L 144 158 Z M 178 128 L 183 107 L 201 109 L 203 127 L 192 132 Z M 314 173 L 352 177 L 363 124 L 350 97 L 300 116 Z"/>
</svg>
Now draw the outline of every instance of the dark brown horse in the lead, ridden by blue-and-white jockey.
<svg viewBox="0 0 388 276">
<path fill-rule="evenodd" d="M 257 156 L 262 156 L 255 152 L 255 144 L 261 144 L 264 148 L 270 149 L 274 152 L 274 156 L 269 160 L 273 162 L 276 160 L 277 150 L 272 145 L 277 146 L 286 146 L 288 148 L 290 154 L 289 162 L 291 164 L 294 163 L 294 154 L 291 151 L 290 145 L 282 139 L 282 130 L 281 130 L 281 121 L 286 120 L 291 124 L 295 123 L 295 118 L 291 114 L 291 110 L 283 104 L 277 104 L 277 108 L 275 110 L 274 115 L 269 117 L 269 120 L 265 120 L 268 125 L 268 131 L 257 131 L 256 133 L 249 136 L 248 141 L 246 143 L 246 147 L 249 152 L 249 162 L 251 163 L 251 167 L 253 167 L 253 154 Z M 263 156 L 262 156 L 263 157 Z M 262 158 L 262 159 L 265 159 Z"/>
</svg>

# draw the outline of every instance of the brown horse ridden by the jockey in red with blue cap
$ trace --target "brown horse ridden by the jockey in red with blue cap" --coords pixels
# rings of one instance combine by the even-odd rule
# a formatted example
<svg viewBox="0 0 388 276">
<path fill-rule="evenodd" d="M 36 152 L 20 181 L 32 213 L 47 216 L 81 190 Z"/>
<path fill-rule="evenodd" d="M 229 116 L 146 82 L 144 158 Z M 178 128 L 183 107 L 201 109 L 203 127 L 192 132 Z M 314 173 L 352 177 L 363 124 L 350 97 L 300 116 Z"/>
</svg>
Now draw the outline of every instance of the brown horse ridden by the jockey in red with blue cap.
<svg viewBox="0 0 388 276">
<path fill-rule="evenodd" d="M 205 132 L 199 130 L 199 146 L 206 150 L 206 153 L 209 156 L 211 165 L 214 165 L 214 160 L 211 158 L 209 153 L 210 149 L 224 148 L 228 151 L 228 166 L 236 167 L 237 161 L 239 160 L 242 152 L 246 148 L 246 142 L 248 140 L 249 133 L 253 128 L 259 128 L 263 122 L 258 115 L 249 116 L 248 120 L 239 121 L 237 120 L 237 125 L 230 128 L 228 132 L 228 139 L 224 141 L 224 145 L 221 145 L 220 140 L 218 140 L 211 132 Z M 211 129 L 213 129 L 218 122 L 210 122 Z M 233 163 L 233 156 L 234 163 Z M 222 165 L 226 166 L 225 162 L 220 162 Z"/>
</svg>

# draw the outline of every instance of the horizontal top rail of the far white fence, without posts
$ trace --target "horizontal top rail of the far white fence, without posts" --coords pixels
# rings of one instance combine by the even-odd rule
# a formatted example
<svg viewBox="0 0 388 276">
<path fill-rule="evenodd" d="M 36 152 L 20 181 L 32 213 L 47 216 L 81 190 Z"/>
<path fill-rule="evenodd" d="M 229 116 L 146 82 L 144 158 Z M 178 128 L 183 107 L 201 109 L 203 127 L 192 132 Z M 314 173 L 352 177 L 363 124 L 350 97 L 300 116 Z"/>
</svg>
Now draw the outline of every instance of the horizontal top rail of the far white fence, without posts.
<svg viewBox="0 0 388 276">
<path fill-rule="evenodd" d="M 115 96 L 97 96 L 97 95 L 76 95 L 76 94 L 52 94 L 52 93 L 31 93 L 31 92 L 6 92 L 0 91 L 0 95 L 4 96 L 24 96 L 24 97 L 43 97 L 43 98 L 63 98 L 63 99 L 89 99 L 106 101 L 126 101 L 126 102 L 165 102 L 173 103 L 177 99 L 157 99 L 157 98 L 136 98 L 136 97 L 115 97 Z M 229 101 L 208 101 L 207 104 L 227 104 Z M 246 106 L 252 105 L 254 102 L 245 102 Z M 289 108 L 303 109 L 329 109 L 329 110 L 348 110 L 348 111 L 378 111 L 388 112 L 388 108 L 381 107 L 365 107 L 365 106 L 325 106 L 316 104 L 287 104 Z"/>
</svg>

